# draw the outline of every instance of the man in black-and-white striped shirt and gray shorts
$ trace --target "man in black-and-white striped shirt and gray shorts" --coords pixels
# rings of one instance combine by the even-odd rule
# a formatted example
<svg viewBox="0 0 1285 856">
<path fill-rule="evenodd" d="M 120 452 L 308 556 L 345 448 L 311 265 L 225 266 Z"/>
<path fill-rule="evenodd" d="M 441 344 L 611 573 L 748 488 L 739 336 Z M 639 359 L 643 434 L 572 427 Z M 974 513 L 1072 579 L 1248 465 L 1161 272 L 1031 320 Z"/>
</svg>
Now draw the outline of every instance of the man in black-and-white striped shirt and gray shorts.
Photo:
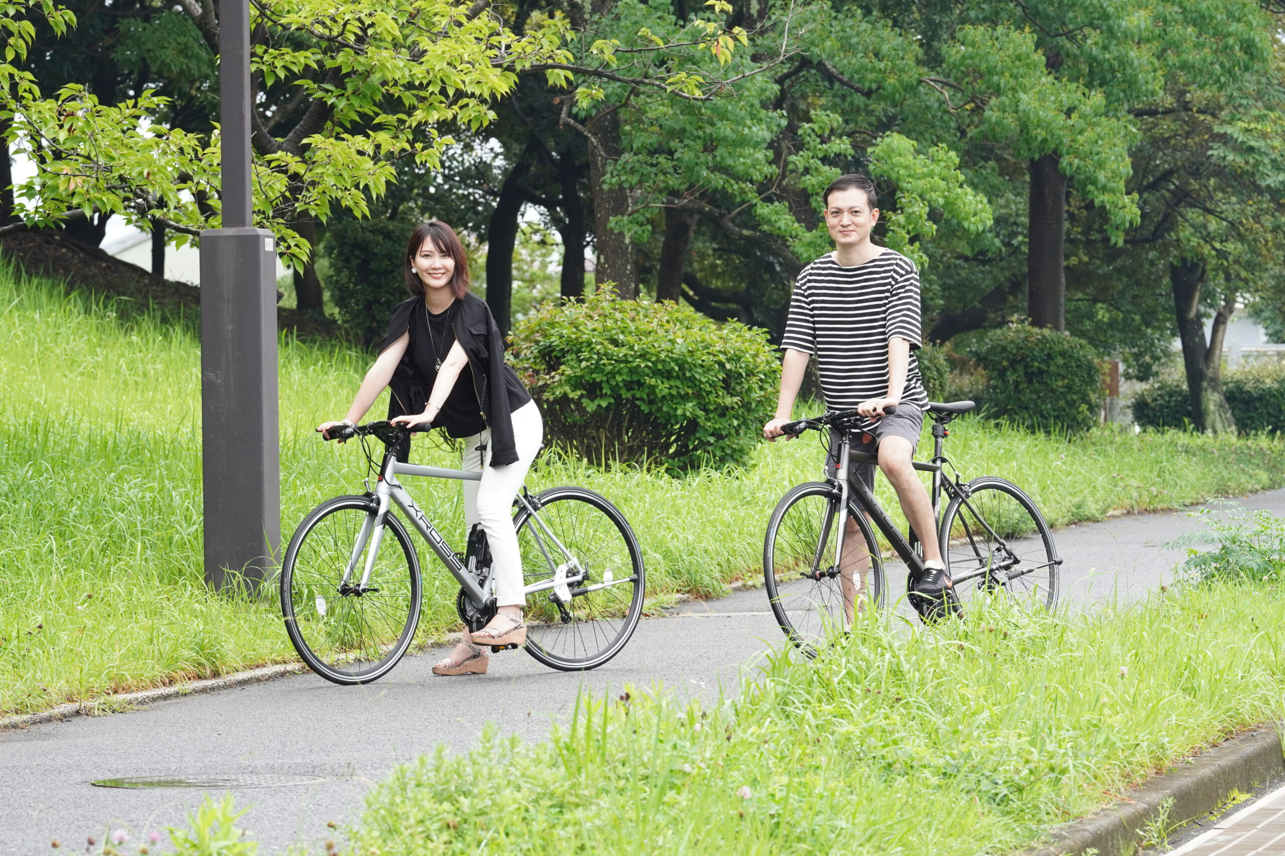
<svg viewBox="0 0 1285 856">
<path fill-rule="evenodd" d="M 879 222 L 873 181 L 840 176 L 825 189 L 824 200 L 834 252 L 808 264 L 795 280 L 781 339 L 785 359 L 776 416 L 763 426 L 763 436 L 781 436 L 781 426 L 792 420 L 808 358 L 815 354 L 826 408 L 861 412 L 852 450 L 878 450 L 879 468 L 897 490 L 901 509 L 923 545 L 926 570 L 912 590 L 941 603 L 951 581 L 942 565 L 928 490 L 911 466 L 928 407 L 911 353 L 920 343 L 919 270 L 905 255 L 870 241 Z M 885 415 L 887 407 L 896 407 L 896 413 Z M 837 450 L 838 444 L 831 445 Z M 826 463 L 831 472 L 838 466 L 833 456 Z M 874 463 L 853 465 L 848 472 L 848 479 L 861 479 L 870 489 L 874 477 Z M 853 608 L 860 608 L 869 570 L 869 556 L 853 520 L 848 521 L 844 543 L 839 570 L 844 610 L 851 616 Z M 861 574 L 860 586 L 853 584 L 855 571 Z"/>
</svg>

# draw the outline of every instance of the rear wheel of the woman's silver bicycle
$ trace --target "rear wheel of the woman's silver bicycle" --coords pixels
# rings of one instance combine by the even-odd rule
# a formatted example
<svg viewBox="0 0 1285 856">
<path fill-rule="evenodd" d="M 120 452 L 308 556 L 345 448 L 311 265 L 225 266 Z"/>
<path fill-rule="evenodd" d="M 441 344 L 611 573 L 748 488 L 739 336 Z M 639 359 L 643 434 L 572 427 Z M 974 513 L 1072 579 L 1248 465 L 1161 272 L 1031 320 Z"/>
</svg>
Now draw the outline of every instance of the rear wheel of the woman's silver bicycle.
<svg viewBox="0 0 1285 856">
<path fill-rule="evenodd" d="M 550 488 L 532 504 L 535 516 L 523 508 L 514 520 L 524 585 L 546 586 L 527 594 L 527 653 L 562 671 L 596 669 L 642 615 L 642 551 L 625 515 L 592 490 Z"/>
</svg>

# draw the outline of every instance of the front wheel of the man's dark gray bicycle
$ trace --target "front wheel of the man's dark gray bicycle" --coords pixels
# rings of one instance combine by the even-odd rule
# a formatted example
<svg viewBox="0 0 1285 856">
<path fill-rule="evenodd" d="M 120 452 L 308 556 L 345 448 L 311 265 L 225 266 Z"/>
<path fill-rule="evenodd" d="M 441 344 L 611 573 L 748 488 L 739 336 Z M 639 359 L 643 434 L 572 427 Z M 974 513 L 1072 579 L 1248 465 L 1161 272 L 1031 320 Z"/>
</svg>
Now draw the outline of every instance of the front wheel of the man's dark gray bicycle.
<svg viewBox="0 0 1285 856">
<path fill-rule="evenodd" d="M 846 563 L 860 560 L 864 552 L 870 557 L 870 570 L 864 575 L 852 572 L 847 579 L 834 562 L 839 490 L 833 484 L 810 481 L 793 488 L 776 503 L 767 524 L 763 540 L 767 597 L 781 630 L 810 657 L 828 633 L 848 628 L 849 610 L 884 604 L 879 543 L 853 502 L 848 503 L 848 517 L 857 531 L 856 538 L 844 539 Z"/>
</svg>

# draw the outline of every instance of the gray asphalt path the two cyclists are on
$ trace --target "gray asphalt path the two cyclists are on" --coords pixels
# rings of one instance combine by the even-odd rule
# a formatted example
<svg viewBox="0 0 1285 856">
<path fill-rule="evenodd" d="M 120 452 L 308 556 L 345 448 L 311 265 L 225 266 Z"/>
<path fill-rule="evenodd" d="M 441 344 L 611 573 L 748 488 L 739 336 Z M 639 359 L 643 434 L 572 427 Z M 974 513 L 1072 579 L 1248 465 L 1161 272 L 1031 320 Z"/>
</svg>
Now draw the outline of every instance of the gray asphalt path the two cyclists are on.
<svg viewBox="0 0 1285 856">
<path fill-rule="evenodd" d="M 1285 490 L 1240 501 L 1285 516 Z M 1072 608 L 1132 602 L 1168 583 L 1182 552 L 1164 544 L 1199 524 L 1185 512 L 1121 516 L 1055 533 L 1063 595 Z M 891 595 L 905 590 L 905 569 L 889 563 Z M 891 599 L 893 599 L 891 597 Z M 645 619 L 610 663 L 587 672 L 550 671 L 520 651 L 491 658 L 486 675 L 437 678 L 441 651 L 407 657 L 383 680 L 335 687 L 311 674 L 218 693 L 193 694 L 111 716 L 80 716 L 0 732 L 0 853 L 51 853 L 50 841 L 81 851 L 86 838 L 125 828 L 185 825 L 209 793 L 226 788 L 114 789 L 113 776 L 312 775 L 307 785 L 233 788 L 252 806 L 243 824 L 261 853 L 305 844 L 320 852 L 334 837 L 328 821 L 360 817 L 362 798 L 398 761 L 445 743 L 472 746 L 487 721 L 505 734 L 544 738 L 569 715 L 577 693 L 618 693 L 662 681 L 678 697 L 735 694 L 741 675 L 784 643 L 762 589 L 689 602 Z"/>
</svg>

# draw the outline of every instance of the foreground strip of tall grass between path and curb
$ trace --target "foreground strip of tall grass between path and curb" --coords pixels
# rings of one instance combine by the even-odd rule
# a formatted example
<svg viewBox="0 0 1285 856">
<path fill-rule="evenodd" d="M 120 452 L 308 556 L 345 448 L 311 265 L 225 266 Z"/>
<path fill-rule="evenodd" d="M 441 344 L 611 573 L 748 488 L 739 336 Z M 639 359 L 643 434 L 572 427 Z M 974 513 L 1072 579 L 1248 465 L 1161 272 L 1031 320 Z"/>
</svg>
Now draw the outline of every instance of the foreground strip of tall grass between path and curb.
<svg viewBox="0 0 1285 856">
<path fill-rule="evenodd" d="M 1239 583 L 1073 619 L 870 616 L 734 702 L 582 697 L 550 740 L 400 765 L 346 852 L 1011 852 L 1279 719 L 1282 621 L 1277 588 Z"/>
</svg>

